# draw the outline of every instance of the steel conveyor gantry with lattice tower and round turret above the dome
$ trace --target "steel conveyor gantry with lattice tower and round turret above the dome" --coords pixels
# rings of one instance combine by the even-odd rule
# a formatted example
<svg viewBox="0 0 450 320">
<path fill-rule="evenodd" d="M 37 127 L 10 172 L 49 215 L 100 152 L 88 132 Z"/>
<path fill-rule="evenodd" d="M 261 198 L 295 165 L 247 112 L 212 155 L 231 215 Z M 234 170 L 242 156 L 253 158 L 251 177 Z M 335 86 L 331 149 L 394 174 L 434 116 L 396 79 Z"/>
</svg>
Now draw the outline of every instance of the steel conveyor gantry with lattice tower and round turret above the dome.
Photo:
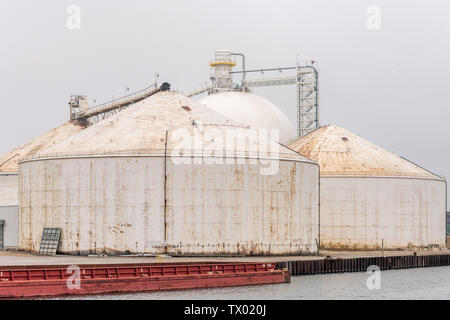
<svg viewBox="0 0 450 320">
<path fill-rule="evenodd" d="M 242 70 L 232 71 L 236 65 L 233 56 L 242 57 Z M 218 50 L 215 52 L 215 59 L 210 63 L 213 68 L 211 84 L 192 90 L 187 93 L 192 97 L 207 92 L 214 94 L 222 91 L 250 91 L 256 87 L 273 87 L 295 85 L 297 89 L 297 135 L 299 137 L 313 131 L 319 127 L 319 73 L 315 67 L 315 61 L 297 62 L 295 67 L 285 68 L 263 68 L 255 70 L 245 69 L 245 57 L 242 53 L 233 53 L 228 50 Z M 285 77 L 264 77 L 257 79 L 247 79 L 246 75 L 251 73 L 266 72 L 295 72 L 294 75 Z M 242 74 L 240 84 L 234 84 L 233 74 Z"/>
</svg>

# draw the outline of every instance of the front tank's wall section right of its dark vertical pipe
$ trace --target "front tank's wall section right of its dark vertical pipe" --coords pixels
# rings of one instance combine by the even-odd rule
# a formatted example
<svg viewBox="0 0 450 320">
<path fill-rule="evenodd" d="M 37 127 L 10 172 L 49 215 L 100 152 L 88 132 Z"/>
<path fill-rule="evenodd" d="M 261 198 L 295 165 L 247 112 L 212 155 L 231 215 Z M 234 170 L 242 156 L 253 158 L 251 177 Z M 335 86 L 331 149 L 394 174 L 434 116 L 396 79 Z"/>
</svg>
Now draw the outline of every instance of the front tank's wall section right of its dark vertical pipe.
<svg viewBox="0 0 450 320">
<path fill-rule="evenodd" d="M 276 255 L 316 253 L 318 166 L 280 161 L 259 166 L 172 165 L 168 176 L 172 253 Z"/>
</svg>

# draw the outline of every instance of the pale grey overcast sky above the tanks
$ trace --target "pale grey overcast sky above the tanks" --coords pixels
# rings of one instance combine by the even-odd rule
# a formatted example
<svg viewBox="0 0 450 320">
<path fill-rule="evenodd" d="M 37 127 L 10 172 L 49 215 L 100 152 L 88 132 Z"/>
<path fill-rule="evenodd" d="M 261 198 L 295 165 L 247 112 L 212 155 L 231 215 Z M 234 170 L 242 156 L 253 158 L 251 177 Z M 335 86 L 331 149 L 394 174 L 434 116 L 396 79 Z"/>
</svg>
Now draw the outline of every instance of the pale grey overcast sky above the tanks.
<svg viewBox="0 0 450 320">
<path fill-rule="evenodd" d="M 81 28 L 66 26 L 69 5 Z M 381 12 L 367 27 L 367 9 Z M 207 81 L 216 49 L 248 68 L 320 66 L 322 124 L 450 177 L 450 3 L 442 0 L 0 2 L 0 153 L 68 120 L 70 94 L 92 104 Z M 236 78 L 238 80 L 238 78 Z M 257 90 L 295 123 L 295 88 Z"/>
</svg>

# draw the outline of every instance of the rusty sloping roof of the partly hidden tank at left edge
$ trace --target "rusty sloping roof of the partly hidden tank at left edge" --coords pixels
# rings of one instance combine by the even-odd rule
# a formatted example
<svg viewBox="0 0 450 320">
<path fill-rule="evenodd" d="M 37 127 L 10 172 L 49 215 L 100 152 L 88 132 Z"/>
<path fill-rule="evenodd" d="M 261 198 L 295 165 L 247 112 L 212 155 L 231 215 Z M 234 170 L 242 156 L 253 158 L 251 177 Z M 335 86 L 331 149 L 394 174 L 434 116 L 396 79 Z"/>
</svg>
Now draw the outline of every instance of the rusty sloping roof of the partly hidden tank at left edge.
<svg viewBox="0 0 450 320">
<path fill-rule="evenodd" d="M 78 121 L 68 121 L 62 125 L 34 138 L 27 143 L 14 148 L 0 156 L 0 173 L 12 173 L 19 171 L 19 161 L 47 149 L 68 137 L 71 137 L 86 126 Z"/>
</svg>

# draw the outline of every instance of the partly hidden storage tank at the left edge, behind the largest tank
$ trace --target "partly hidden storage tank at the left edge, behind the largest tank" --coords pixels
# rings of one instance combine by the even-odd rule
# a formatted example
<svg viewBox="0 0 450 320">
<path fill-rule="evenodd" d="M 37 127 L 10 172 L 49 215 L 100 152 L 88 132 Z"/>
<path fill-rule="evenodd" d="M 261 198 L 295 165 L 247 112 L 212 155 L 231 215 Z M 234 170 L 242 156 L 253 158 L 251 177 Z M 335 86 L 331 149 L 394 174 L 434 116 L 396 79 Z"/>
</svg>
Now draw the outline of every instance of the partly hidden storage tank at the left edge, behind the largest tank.
<svg viewBox="0 0 450 320">
<path fill-rule="evenodd" d="M 0 220 L 5 222 L 2 233 L 5 248 L 18 246 L 19 159 L 35 155 L 84 128 L 77 121 L 66 122 L 0 156 Z"/>
</svg>

